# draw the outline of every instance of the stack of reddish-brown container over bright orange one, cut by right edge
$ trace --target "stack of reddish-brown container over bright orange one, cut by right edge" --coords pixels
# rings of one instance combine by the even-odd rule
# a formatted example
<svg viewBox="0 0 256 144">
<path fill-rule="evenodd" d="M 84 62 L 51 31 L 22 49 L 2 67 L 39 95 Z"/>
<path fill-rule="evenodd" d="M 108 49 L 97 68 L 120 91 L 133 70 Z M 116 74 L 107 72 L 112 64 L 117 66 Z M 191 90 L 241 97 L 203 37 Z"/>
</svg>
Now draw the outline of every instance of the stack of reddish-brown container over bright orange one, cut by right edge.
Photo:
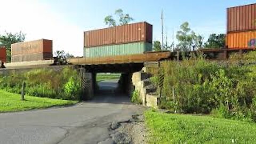
<svg viewBox="0 0 256 144">
<path fill-rule="evenodd" d="M 256 48 L 256 4 L 227 9 L 227 39 L 229 49 Z"/>
</svg>

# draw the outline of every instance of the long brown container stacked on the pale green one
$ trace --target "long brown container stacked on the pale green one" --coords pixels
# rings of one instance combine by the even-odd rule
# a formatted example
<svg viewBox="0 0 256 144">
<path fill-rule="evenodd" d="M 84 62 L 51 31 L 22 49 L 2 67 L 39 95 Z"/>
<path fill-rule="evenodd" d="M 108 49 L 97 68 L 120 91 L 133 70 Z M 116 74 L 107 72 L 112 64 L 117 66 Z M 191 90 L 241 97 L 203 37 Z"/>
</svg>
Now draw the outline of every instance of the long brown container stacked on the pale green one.
<svg viewBox="0 0 256 144">
<path fill-rule="evenodd" d="M 132 23 L 84 32 L 84 47 L 133 42 L 152 43 L 153 26 L 147 22 Z"/>
</svg>

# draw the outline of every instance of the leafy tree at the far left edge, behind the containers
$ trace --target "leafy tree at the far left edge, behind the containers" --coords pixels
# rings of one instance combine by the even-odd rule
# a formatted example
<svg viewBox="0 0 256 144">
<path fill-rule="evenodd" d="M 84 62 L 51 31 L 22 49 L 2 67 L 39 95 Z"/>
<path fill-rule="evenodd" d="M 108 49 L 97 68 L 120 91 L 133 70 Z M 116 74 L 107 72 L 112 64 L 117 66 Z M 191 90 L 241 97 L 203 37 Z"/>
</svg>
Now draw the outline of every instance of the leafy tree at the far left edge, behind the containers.
<svg viewBox="0 0 256 144">
<path fill-rule="evenodd" d="M 5 31 L 4 35 L 0 35 L 0 46 L 6 48 L 6 60 L 7 62 L 11 61 L 11 44 L 20 43 L 25 41 L 25 34 L 21 31 L 19 33 L 7 33 Z"/>
</svg>

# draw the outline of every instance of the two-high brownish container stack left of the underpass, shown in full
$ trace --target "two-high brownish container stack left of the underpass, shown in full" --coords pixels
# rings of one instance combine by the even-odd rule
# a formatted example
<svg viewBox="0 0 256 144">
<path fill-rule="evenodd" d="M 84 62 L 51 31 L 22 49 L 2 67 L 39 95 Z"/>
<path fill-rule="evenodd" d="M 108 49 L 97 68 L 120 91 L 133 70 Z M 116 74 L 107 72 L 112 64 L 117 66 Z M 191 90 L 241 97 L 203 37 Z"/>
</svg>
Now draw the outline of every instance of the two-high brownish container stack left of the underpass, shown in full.
<svg viewBox="0 0 256 144">
<path fill-rule="evenodd" d="M 52 41 L 39 39 L 36 41 L 12 44 L 11 55 L 12 62 L 52 59 Z"/>
</svg>

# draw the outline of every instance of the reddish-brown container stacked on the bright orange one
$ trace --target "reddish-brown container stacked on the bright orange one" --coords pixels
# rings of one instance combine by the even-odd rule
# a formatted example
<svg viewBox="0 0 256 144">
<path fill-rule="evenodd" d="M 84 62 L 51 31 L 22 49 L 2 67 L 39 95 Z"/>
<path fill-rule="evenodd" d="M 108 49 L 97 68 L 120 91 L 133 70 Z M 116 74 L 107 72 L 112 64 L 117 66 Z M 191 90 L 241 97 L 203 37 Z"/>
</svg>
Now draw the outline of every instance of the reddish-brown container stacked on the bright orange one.
<svg viewBox="0 0 256 144">
<path fill-rule="evenodd" d="M 230 7 L 227 9 L 227 31 L 256 30 L 256 4 Z"/>
</svg>

